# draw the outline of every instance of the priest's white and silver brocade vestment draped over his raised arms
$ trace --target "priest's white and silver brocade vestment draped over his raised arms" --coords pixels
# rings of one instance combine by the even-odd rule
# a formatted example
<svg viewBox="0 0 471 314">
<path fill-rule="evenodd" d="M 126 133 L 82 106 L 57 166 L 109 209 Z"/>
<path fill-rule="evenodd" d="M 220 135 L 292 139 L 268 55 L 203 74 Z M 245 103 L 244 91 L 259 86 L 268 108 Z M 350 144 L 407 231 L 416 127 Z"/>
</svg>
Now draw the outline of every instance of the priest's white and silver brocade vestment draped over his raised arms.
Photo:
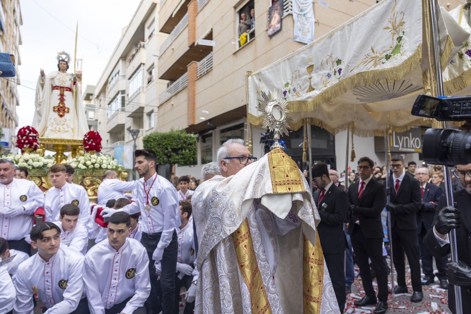
<svg viewBox="0 0 471 314">
<path fill-rule="evenodd" d="M 234 176 L 215 176 L 204 181 L 193 195 L 193 217 L 199 240 L 196 267 L 200 273 L 196 289 L 196 314 L 254 313 L 253 302 L 260 304 L 260 308 L 256 308 L 258 313 L 311 313 L 303 305 L 303 282 L 310 284 L 312 291 L 320 288 L 317 298 L 307 296 L 317 302 L 315 312 L 339 313 L 323 258 L 317 259 L 323 273 L 309 273 L 306 268 L 303 270 L 304 237 L 314 245 L 316 225 L 320 221 L 316 205 L 308 192 L 309 187 L 306 192 L 274 193 L 267 156 Z M 300 172 L 297 167 L 294 171 Z M 301 185 L 307 187 L 304 177 L 301 174 L 298 177 L 302 177 Z M 243 264 L 238 258 L 244 259 L 251 254 L 244 243 L 242 246 L 247 250 L 243 249 L 242 257 L 236 253 L 235 243 L 240 246 L 241 242 L 237 241 L 244 239 L 235 240 L 234 236 L 237 233 L 247 234 L 242 231 L 245 218 L 266 292 L 263 299 L 266 301 L 253 298 L 246 284 L 247 273 L 243 274 L 243 265 L 238 265 L 239 262 Z M 321 287 L 318 282 L 322 282 Z"/>
</svg>

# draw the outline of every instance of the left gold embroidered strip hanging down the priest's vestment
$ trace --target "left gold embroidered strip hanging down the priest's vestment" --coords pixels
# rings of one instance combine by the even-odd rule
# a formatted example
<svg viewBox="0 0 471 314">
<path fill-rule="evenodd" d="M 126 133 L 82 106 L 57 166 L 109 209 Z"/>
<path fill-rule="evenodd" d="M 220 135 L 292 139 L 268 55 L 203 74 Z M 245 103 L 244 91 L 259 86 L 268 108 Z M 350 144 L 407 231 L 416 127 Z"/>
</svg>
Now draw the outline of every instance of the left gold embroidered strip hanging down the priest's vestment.
<svg viewBox="0 0 471 314">
<path fill-rule="evenodd" d="M 250 303 L 253 314 L 271 314 L 267 291 L 260 275 L 257 257 L 253 249 L 249 221 L 245 218 L 242 225 L 232 233 L 235 245 L 235 255 L 239 263 L 240 273 L 250 292 Z"/>
</svg>

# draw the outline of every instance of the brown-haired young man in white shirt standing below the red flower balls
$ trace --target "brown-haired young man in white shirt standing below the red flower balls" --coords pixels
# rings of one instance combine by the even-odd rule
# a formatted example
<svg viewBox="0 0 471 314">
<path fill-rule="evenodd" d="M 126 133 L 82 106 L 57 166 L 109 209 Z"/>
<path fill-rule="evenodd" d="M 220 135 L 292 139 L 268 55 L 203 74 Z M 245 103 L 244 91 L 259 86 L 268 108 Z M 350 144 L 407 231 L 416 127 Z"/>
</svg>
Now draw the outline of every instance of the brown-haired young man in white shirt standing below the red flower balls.
<svg viewBox="0 0 471 314">
<path fill-rule="evenodd" d="M 57 163 L 49 168 L 49 179 L 52 187 L 44 196 L 44 220 L 58 221 L 60 209 L 65 204 L 74 204 L 79 207 L 79 221 L 86 225 L 90 216 L 90 200 L 87 192 L 81 185 L 66 182 L 65 165 Z"/>
</svg>

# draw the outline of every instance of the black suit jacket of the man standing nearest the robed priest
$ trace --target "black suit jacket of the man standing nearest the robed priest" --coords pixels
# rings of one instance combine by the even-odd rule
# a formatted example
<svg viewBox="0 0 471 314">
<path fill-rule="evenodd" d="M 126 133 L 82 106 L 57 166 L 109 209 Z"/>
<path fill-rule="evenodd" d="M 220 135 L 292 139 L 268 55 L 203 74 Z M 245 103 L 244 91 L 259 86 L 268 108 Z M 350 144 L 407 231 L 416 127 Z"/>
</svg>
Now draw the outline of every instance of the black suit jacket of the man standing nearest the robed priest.
<svg viewBox="0 0 471 314">
<path fill-rule="evenodd" d="M 334 184 L 330 186 L 321 202 L 318 203 L 320 190 L 313 194 L 321 222 L 317 225 L 322 251 L 342 253 L 345 250 L 343 223 L 347 219 L 349 201 L 347 193 Z"/>
</svg>

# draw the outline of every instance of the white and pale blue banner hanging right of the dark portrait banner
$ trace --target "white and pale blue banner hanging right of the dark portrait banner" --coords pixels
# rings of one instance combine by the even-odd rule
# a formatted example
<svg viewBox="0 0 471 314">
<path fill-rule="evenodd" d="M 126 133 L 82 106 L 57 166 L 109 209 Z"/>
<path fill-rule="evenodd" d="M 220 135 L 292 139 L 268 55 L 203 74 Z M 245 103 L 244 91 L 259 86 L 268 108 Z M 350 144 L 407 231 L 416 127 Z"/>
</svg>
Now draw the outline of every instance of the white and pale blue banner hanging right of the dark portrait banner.
<svg viewBox="0 0 471 314">
<path fill-rule="evenodd" d="M 312 0 L 293 0 L 292 10 L 293 40 L 309 44 L 314 40 L 314 23 L 316 23 Z"/>
</svg>

